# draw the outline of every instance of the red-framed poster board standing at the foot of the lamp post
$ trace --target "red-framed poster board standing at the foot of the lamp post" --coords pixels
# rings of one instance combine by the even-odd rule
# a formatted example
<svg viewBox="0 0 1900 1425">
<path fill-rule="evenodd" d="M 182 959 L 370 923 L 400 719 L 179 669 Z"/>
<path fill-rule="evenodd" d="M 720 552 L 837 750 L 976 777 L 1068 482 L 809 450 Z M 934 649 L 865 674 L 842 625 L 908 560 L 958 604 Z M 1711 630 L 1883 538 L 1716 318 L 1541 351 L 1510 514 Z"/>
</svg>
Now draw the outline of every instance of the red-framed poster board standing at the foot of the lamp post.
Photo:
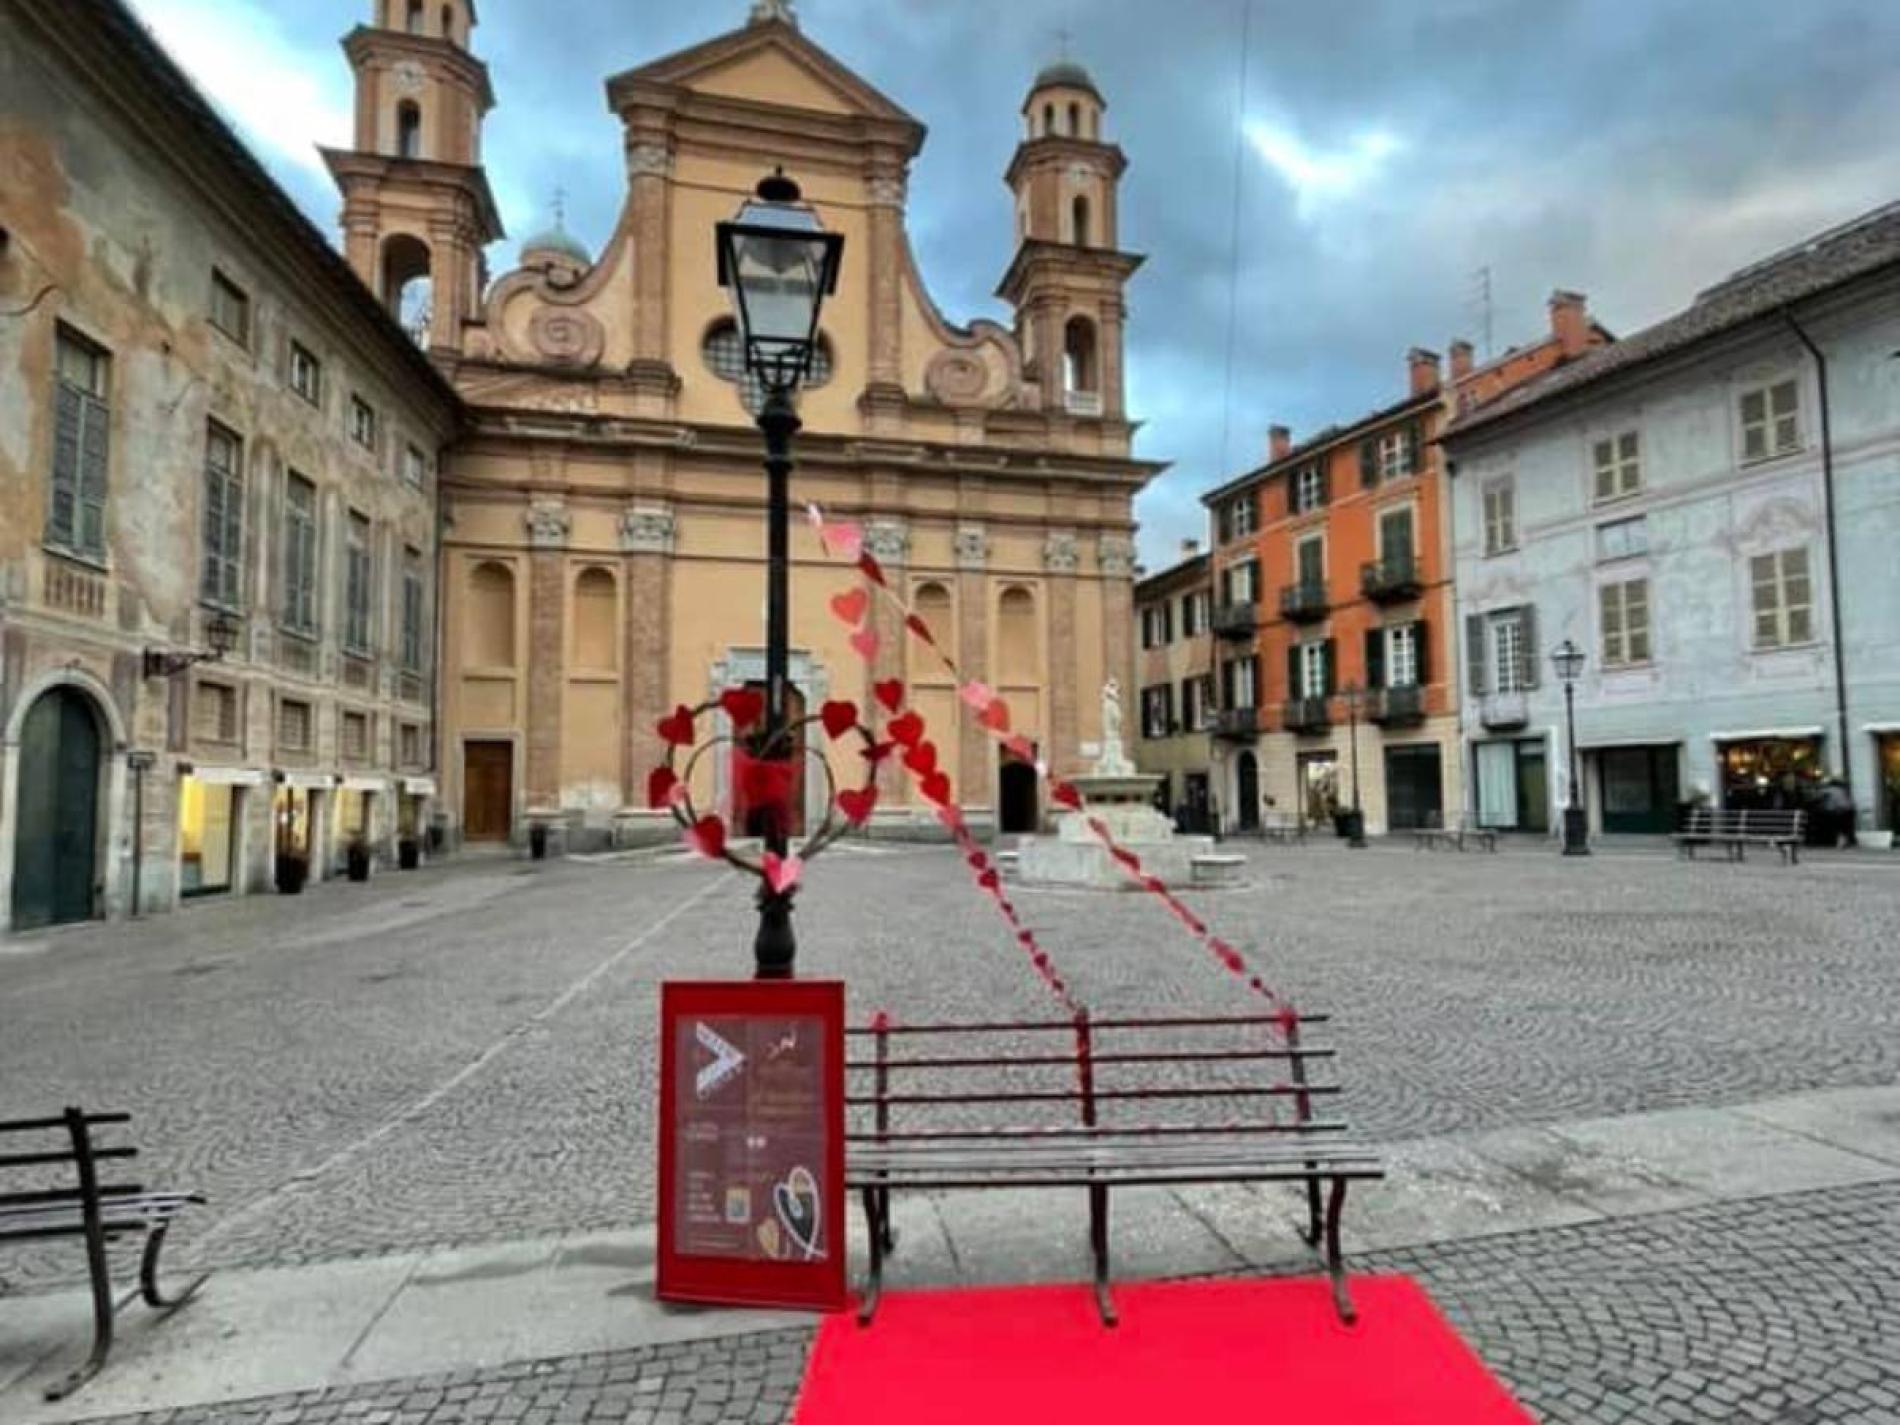
<svg viewBox="0 0 1900 1425">
<path fill-rule="evenodd" d="M 846 1307 L 840 980 L 659 986 L 657 1296 Z"/>
</svg>

